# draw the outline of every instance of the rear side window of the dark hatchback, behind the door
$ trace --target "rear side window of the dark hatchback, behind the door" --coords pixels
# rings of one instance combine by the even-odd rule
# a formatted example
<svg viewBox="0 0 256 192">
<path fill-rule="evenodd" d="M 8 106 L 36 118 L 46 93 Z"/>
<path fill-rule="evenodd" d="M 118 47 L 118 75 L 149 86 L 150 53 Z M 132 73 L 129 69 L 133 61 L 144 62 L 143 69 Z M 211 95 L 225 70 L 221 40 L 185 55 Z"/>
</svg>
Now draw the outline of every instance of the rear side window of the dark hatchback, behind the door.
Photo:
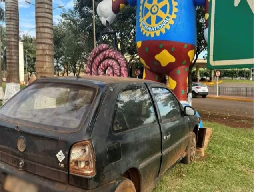
<svg viewBox="0 0 256 192">
<path fill-rule="evenodd" d="M 154 108 L 146 88 L 136 86 L 118 93 L 113 123 L 115 132 L 155 122 Z"/>
</svg>

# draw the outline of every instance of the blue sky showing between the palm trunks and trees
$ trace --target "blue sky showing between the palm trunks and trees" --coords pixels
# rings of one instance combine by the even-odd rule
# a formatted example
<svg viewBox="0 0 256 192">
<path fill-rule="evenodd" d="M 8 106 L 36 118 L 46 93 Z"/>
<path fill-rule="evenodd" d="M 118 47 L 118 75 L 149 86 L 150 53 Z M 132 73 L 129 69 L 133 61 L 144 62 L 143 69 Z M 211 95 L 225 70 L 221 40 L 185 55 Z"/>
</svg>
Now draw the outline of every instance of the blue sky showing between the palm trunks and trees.
<svg viewBox="0 0 256 192">
<path fill-rule="evenodd" d="M 35 4 L 35 0 L 30 0 Z M 63 5 L 65 9 L 73 8 L 73 0 L 52 0 L 53 8 Z M 4 8 L 4 4 L 0 4 Z M 60 14 L 63 11 L 63 8 L 58 8 L 53 10 L 53 22 L 57 23 L 60 18 Z M 19 19 L 20 19 L 20 28 L 27 33 L 30 29 L 36 27 L 35 21 L 35 6 L 28 4 L 25 0 L 19 0 Z M 20 35 L 22 32 L 20 31 Z M 30 36 L 36 36 L 36 30 L 30 30 L 28 33 Z"/>
</svg>

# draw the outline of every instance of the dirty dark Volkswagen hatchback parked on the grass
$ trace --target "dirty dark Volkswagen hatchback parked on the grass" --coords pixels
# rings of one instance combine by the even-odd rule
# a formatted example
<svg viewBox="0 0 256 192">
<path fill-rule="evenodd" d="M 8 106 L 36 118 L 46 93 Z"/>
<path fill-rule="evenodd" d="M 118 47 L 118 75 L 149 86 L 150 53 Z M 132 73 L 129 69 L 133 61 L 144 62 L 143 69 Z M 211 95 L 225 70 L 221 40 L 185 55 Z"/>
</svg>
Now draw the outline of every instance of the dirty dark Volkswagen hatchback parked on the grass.
<svg viewBox="0 0 256 192">
<path fill-rule="evenodd" d="M 194 160 L 195 114 L 157 82 L 36 80 L 0 108 L 0 191 L 150 191 Z"/>
</svg>

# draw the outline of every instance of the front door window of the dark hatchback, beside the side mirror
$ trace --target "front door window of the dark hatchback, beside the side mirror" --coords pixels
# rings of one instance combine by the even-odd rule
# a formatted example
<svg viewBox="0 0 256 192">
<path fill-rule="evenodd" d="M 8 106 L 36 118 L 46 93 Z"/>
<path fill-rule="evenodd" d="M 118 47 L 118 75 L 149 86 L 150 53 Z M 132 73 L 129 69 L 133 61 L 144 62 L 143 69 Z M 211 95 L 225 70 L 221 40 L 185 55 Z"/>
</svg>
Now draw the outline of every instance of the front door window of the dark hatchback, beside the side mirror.
<svg viewBox="0 0 256 192">
<path fill-rule="evenodd" d="M 178 100 L 166 88 L 152 88 L 154 98 L 162 118 L 162 121 L 175 119 L 181 116 Z"/>
</svg>

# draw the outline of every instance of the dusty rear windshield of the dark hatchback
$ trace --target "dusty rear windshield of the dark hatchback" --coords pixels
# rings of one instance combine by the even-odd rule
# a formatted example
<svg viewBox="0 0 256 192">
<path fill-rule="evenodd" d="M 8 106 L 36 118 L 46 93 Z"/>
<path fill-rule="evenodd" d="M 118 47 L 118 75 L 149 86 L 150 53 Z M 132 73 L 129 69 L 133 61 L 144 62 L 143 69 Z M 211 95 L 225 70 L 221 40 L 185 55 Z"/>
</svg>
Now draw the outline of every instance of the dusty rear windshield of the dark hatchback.
<svg viewBox="0 0 256 192">
<path fill-rule="evenodd" d="M 96 90 L 88 86 L 36 83 L 0 108 L 0 118 L 54 130 L 74 130 L 89 112 Z"/>
</svg>

